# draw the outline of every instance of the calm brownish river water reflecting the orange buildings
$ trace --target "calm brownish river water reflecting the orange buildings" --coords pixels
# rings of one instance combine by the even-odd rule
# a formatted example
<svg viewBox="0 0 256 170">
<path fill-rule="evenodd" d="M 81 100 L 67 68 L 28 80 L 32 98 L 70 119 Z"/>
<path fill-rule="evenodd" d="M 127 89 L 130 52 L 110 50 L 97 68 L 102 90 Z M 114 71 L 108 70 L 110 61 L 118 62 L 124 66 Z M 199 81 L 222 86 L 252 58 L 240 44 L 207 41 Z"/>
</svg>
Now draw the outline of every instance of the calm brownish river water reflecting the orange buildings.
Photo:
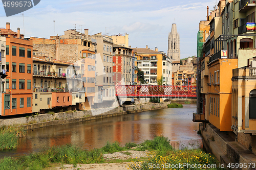
<svg viewBox="0 0 256 170">
<path fill-rule="evenodd" d="M 194 123 L 196 105 L 183 108 L 166 108 L 135 114 L 90 120 L 68 125 L 57 125 L 29 130 L 13 151 L 0 151 L 0 158 L 38 152 L 44 148 L 62 144 L 74 144 L 83 149 L 103 147 L 107 141 L 141 143 L 155 136 L 168 137 L 175 148 L 188 143 L 202 145 Z M 191 144 L 189 144 L 191 145 Z"/>
</svg>

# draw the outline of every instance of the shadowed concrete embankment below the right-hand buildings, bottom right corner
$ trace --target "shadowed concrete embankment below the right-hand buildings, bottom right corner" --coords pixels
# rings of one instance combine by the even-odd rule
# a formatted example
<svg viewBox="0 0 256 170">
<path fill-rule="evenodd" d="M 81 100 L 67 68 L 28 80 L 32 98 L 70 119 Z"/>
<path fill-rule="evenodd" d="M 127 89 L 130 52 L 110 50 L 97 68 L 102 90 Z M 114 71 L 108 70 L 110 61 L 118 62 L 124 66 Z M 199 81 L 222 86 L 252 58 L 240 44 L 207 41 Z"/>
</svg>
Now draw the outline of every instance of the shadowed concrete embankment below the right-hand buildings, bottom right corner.
<svg viewBox="0 0 256 170">
<path fill-rule="evenodd" d="M 256 156 L 243 147 L 225 132 L 220 132 L 214 126 L 207 124 L 206 128 L 199 127 L 203 138 L 203 145 L 207 152 L 212 153 L 215 157 L 225 164 L 227 169 L 255 169 Z M 239 168 L 236 168 L 236 163 Z M 253 164 L 254 163 L 254 167 Z M 237 165 L 238 165 L 237 164 Z M 233 168 L 229 168 L 235 165 Z M 250 165 L 250 167 L 249 167 Z M 240 168 L 241 166 L 241 168 Z"/>
</svg>

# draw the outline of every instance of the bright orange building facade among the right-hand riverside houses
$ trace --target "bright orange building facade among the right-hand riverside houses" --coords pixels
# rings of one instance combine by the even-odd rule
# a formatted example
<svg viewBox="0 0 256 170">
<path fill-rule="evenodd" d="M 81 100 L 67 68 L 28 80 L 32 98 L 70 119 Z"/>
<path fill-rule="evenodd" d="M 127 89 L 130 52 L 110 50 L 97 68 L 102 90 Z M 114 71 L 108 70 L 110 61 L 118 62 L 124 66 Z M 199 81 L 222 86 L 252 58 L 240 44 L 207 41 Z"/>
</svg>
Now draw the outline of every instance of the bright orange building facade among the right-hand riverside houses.
<svg viewBox="0 0 256 170">
<path fill-rule="evenodd" d="M 217 59 L 208 64 L 209 82 L 205 117 L 220 131 L 231 130 L 232 69 L 238 59 Z"/>
</svg>

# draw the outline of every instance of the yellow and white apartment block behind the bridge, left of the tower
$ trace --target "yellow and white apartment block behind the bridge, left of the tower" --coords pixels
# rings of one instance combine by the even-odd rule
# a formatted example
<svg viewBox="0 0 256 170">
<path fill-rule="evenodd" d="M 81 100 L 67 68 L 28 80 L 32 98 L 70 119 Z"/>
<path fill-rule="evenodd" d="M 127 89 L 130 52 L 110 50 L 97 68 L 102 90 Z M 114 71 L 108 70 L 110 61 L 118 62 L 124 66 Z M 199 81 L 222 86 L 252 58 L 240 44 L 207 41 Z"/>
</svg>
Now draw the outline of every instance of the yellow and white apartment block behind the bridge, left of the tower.
<svg viewBox="0 0 256 170">
<path fill-rule="evenodd" d="M 157 85 L 157 80 L 163 76 L 164 85 L 172 85 L 172 64 L 170 59 L 161 52 L 146 48 L 134 48 L 138 68 L 144 72 L 145 81 Z"/>
</svg>

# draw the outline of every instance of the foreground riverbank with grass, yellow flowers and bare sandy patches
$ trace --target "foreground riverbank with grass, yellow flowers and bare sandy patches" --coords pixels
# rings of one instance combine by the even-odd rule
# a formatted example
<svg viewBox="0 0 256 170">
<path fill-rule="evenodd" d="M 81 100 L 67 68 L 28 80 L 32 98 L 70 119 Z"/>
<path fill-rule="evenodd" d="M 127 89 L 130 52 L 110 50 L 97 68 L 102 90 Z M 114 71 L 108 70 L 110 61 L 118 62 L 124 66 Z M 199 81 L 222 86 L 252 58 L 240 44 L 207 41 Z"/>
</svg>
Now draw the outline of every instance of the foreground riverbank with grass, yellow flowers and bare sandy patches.
<svg viewBox="0 0 256 170">
<path fill-rule="evenodd" d="M 158 136 L 141 144 L 125 143 L 124 147 L 117 142 L 107 143 L 104 147 L 91 151 L 81 150 L 72 145 L 52 147 L 39 153 L 16 158 L 6 157 L 0 160 L 0 169 L 84 169 L 88 165 L 83 164 L 91 164 L 89 168 L 97 170 L 106 169 L 106 166 L 110 169 L 119 169 L 122 166 L 122 169 L 129 167 L 135 170 L 150 169 L 150 163 L 154 168 L 163 162 L 168 165 L 186 163 L 197 167 L 219 165 L 214 156 L 201 149 L 174 150 L 168 138 Z M 112 166 L 111 163 L 115 164 Z M 217 166 L 215 169 L 221 168 Z"/>
</svg>

